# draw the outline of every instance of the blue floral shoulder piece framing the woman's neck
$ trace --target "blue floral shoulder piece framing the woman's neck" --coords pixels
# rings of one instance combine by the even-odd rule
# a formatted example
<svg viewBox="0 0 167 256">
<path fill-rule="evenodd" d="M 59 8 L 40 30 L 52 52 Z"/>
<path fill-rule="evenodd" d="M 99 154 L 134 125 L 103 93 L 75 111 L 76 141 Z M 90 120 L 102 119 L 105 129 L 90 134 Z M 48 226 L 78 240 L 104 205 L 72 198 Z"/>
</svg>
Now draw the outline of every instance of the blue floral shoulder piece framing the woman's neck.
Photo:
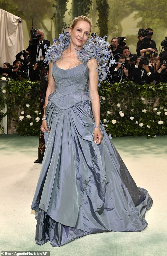
<svg viewBox="0 0 167 256">
<path fill-rule="evenodd" d="M 47 50 L 45 63 L 56 62 L 63 56 L 63 51 L 68 48 L 70 44 L 70 35 L 68 32 L 65 34 L 60 34 L 58 39 L 54 39 L 54 44 L 52 44 Z M 80 50 L 76 49 L 76 54 L 78 59 L 86 64 L 88 60 L 95 58 L 98 64 L 98 86 L 101 85 L 102 81 L 107 78 L 109 74 L 109 60 L 111 54 L 108 51 L 109 43 L 105 41 L 105 37 L 101 38 L 96 36 L 95 38 L 90 38 L 83 45 Z M 47 46 L 45 46 L 47 48 Z"/>
</svg>

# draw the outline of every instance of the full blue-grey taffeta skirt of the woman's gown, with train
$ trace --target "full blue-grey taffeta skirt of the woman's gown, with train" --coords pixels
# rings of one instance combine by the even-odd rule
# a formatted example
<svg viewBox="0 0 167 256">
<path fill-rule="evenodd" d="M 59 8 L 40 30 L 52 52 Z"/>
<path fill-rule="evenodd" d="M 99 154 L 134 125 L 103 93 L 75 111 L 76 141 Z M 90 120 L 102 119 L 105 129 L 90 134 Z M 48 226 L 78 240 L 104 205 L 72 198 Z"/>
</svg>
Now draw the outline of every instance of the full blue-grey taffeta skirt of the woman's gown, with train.
<svg viewBox="0 0 167 256">
<path fill-rule="evenodd" d="M 90 101 L 61 110 L 49 101 L 46 150 L 31 208 L 36 211 L 36 243 L 61 246 L 91 233 L 142 231 L 152 205 L 138 188 L 102 126 L 93 141 Z"/>
</svg>

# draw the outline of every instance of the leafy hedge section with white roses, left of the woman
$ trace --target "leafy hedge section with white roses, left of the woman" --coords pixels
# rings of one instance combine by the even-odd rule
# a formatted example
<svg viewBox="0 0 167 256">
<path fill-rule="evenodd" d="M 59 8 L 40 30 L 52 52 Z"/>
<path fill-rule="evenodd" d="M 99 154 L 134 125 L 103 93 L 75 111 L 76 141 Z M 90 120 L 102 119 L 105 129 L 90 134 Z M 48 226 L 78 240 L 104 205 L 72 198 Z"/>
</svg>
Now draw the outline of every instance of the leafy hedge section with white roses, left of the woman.
<svg viewBox="0 0 167 256">
<path fill-rule="evenodd" d="M 6 103 L 8 126 L 14 121 L 18 134 L 24 136 L 39 135 L 39 82 L 26 79 L 20 82 L 10 78 L 6 80 L 6 86 L 3 90 L 0 90 L 1 94 L 3 94 L 3 101 L 0 104 L 0 113 L 2 113 Z M 0 122 L 2 117 L 1 115 Z"/>
</svg>

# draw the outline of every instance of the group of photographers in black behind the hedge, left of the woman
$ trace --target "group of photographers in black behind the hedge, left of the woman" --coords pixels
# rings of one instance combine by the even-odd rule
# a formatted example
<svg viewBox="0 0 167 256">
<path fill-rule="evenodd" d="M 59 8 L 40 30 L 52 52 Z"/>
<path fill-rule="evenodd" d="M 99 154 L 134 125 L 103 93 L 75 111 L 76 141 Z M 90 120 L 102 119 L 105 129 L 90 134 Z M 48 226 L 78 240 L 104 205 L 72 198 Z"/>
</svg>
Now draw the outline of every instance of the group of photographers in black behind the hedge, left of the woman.
<svg viewBox="0 0 167 256">
<path fill-rule="evenodd" d="M 24 78 L 31 81 L 40 80 L 41 69 L 45 66 L 43 60 L 46 46 L 49 47 L 50 42 L 44 39 L 43 30 L 31 30 L 31 38 L 27 49 L 17 53 L 13 65 L 8 62 L 3 63 L 0 74 L 20 81 Z"/>
</svg>

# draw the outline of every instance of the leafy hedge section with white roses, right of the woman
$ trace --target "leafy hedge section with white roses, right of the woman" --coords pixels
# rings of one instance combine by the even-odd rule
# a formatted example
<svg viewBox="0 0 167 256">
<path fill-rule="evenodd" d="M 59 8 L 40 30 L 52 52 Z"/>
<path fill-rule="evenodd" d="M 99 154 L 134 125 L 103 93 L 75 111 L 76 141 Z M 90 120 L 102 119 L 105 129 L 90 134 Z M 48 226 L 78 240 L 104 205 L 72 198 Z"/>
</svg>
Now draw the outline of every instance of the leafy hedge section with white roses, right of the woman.
<svg viewBox="0 0 167 256">
<path fill-rule="evenodd" d="M 101 120 L 113 137 L 167 134 L 167 84 L 131 81 L 99 88 Z"/>
</svg>

